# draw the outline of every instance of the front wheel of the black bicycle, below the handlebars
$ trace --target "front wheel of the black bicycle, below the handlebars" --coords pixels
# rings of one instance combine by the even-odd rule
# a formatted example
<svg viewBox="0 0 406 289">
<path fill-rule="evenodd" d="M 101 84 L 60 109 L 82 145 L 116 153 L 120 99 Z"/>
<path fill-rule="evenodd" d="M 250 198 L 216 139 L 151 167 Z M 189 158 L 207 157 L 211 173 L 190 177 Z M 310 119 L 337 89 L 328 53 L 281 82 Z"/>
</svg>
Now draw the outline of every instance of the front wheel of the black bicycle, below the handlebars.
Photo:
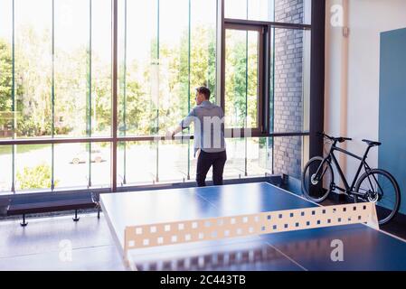
<svg viewBox="0 0 406 289">
<path fill-rule="evenodd" d="M 322 157 L 311 159 L 302 174 L 302 191 L 308 200 L 326 200 L 334 183 L 333 169 Z"/>
</svg>

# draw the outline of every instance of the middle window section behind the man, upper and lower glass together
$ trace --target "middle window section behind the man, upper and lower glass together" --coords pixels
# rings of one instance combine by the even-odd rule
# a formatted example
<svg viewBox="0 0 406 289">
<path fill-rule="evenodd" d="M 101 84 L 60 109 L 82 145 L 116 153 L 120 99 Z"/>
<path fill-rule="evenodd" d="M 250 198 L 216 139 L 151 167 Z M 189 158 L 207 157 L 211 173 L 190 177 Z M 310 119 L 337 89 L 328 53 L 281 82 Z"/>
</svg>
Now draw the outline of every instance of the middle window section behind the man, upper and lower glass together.
<svg viewBox="0 0 406 289">
<path fill-rule="evenodd" d="M 212 100 L 217 98 L 217 1 L 120 0 L 118 5 L 118 135 L 150 137 L 120 143 L 118 182 L 190 180 L 193 143 L 154 142 L 154 136 L 187 116 L 195 88 L 207 86 Z M 137 160 L 145 166 L 129 167 Z"/>
</svg>

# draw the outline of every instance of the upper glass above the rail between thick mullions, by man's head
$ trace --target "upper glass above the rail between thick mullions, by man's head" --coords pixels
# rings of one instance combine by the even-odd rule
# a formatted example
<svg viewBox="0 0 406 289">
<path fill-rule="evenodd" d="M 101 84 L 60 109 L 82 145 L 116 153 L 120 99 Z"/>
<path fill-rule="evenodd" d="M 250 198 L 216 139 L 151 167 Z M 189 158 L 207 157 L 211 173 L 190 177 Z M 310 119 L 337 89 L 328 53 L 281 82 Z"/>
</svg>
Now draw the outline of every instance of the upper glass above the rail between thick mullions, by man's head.
<svg viewBox="0 0 406 289">
<path fill-rule="evenodd" d="M 194 107 L 196 87 L 215 91 L 216 8 L 119 1 L 118 135 L 163 135 Z"/>
</svg>

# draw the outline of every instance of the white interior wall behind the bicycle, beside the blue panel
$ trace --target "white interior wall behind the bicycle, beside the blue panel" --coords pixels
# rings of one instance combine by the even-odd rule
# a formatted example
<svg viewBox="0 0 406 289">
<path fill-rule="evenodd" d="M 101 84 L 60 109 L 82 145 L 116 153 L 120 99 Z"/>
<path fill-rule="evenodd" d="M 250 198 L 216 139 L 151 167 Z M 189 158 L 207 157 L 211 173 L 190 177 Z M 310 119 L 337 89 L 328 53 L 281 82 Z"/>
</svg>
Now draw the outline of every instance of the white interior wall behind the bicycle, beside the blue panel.
<svg viewBox="0 0 406 289">
<path fill-rule="evenodd" d="M 364 154 L 362 139 L 379 140 L 380 34 L 406 27 L 404 0 L 326 0 L 325 131 L 353 137 L 347 149 Z M 349 35 L 333 26 L 333 5 L 342 5 Z M 347 42 L 347 43 L 346 43 Z M 347 53 L 345 52 L 348 49 Z M 384 145 L 384 144 L 383 144 Z M 378 166 L 378 150 L 368 162 Z M 354 176 L 358 163 L 348 159 L 345 173 Z"/>
</svg>

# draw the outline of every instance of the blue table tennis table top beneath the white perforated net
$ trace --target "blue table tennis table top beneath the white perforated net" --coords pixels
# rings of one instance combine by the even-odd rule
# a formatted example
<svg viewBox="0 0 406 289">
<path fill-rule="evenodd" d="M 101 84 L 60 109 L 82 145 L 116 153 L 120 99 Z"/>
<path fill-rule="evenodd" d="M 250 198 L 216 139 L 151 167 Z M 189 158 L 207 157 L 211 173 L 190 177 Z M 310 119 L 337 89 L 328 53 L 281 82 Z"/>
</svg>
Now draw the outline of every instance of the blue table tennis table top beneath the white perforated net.
<svg viewBox="0 0 406 289">
<path fill-rule="evenodd" d="M 187 220 L 250 216 L 282 210 L 295 210 L 295 213 L 303 210 L 304 215 L 305 210 L 328 208 L 268 182 L 100 194 L 100 206 L 128 269 L 406 270 L 406 242 L 364 223 L 186 243 L 172 239 L 172 244 L 167 246 L 126 249 L 126 230 L 131 226 L 182 224 Z M 349 207 L 344 210 L 346 208 Z M 244 218 L 247 219 L 243 217 L 241 222 Z M 342 251 L 336 256 L 341 254 L 341 257 L 335 258 L 338 252 L 335 249 L 339 246 Z"/>
</svg>

